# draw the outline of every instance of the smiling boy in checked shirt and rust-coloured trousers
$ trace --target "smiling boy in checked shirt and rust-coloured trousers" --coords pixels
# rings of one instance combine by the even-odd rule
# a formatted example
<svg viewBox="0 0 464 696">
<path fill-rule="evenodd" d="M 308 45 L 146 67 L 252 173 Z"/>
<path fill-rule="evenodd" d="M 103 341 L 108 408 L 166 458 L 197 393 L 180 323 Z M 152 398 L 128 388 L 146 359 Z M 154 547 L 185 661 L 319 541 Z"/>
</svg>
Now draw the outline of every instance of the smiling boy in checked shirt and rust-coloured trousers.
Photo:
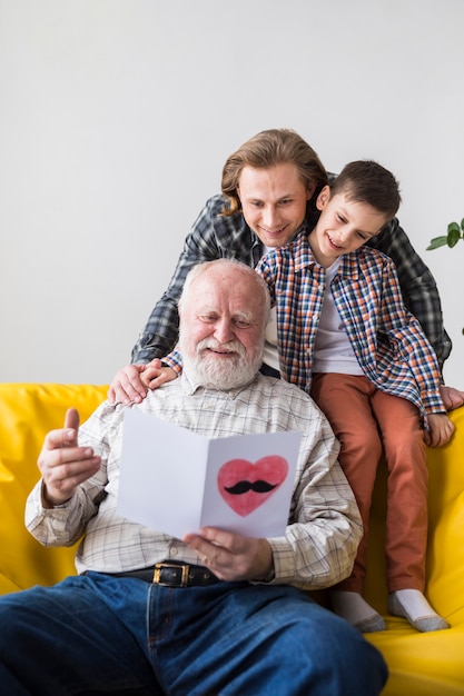
<svg viewBox="0 0 464 696">
<path fill-rule="evenodd" d="M 445 444 L 453 424 L 441 398 L 436 357 L 404 307 L 394 264 L 367 246 L 399 201 L 389 171 L 373 161 L 352 162 L 318 195 L 315 227 L 269 251 L 257 267 L 277 309 L 280 374 L 312 394 L 342 444 L 339 460 L 364 536 L 351 577 L 332 598 L 335 610 L 362 632 L 385 628 L 362 597 L 382 449 L 388 469 L 389 610 L 418 630 L 447 628 L 423 596 L 425 445 Z"/>
</svg>

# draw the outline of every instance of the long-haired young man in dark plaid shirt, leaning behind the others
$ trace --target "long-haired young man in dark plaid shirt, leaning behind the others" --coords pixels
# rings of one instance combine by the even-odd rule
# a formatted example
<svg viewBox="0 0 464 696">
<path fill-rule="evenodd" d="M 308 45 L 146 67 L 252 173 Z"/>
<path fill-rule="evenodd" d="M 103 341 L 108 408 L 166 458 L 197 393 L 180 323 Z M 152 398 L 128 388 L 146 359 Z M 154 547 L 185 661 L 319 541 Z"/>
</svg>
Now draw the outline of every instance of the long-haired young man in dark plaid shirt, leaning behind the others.
<svg viewBox="0 0 464 696">
<path fill-rule="evenodd" d="M 158 368 L 156 358 L 167 356 L 177 341 L 177 300 L 188 270 L 199 261 L 221 257 L 255 267 L 267 248 L 279 247 L 314 226 L 315 201 L 327 183 L 316 152 L 292 130 L 265 130 L 228 157 L 223 169 L 223 193 L 207 201 L 187 236 L 169 287 L 134 347 L 131 359 L 138 365 L 118 371 L 108 392 L 111 401 L 139 401 L 147 392 L 140 374 L 145 372 L 146 384 L 158 375 L 150 368 Z M 405 304 L 419 320 L 442 367 L 451 341 L 431 271 L 397 219 L 368 243 L 395 261 Z M 266 355 L 277 362 L 275 347 L 267 346 Z M 150 386 L 157 384 L 159 380 Z M 446 408 L 464 404 L 464 391 L 452 387 L 442 386 L 442 396 Z"/>
</svg>

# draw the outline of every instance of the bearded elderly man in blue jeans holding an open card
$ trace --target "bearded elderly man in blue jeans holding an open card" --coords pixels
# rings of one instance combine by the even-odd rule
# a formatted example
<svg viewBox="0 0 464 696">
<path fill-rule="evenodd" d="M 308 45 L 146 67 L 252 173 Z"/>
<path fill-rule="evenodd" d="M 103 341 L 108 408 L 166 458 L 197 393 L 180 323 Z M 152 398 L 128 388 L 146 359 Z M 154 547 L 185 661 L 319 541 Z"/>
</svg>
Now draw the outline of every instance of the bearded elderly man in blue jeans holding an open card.
<svg viewBox="0 0 464 696">
<path fill-rule="evenodd" d="M 209 437 L 300 431 L 285 535 L 209 527 L 178 539 L 118 517 L 125 407 L 101 405 L 79 445 L 69 410 L 46 438 L 27 525 L 51 546 L 83 535 L 79 575 L 0 599 L 6 694 L 381 693 L 379 653 L 302 591 L 349 575 L 362 526 L 325 417 L 257 371 L 268 312 L 267 288 L 245 265 L 194 268 L 179 306 L 185 372 L 132 408 Z"/>
</svg>

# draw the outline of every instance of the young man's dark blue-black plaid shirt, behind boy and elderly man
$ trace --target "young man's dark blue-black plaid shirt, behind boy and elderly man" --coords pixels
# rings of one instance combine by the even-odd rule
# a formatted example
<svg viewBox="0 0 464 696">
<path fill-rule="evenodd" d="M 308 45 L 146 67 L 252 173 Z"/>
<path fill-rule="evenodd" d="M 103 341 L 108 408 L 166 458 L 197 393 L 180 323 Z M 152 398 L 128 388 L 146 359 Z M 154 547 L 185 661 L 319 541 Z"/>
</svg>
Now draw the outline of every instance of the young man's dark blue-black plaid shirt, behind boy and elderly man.
<svg viewBox="0 0 464 696">
<path fill-rule="evenodd" d="M 261 242 L 245 222 L 241 212 L 233 216 L 220 215 L 226 205 L 223 196 L 214 196 L 199 213 L 185 240 L 169 287 L 152 309 L 132 348 L 132 362 L 149 362 L 152 358 L 162 358 L 176 345 L 179 324 L 177 302 L 192 266 L 218 258 L 235 258 L 254 268 L 259 261 L 263 255 Z M 310 217 L 309 212 L 307 217 Z M 308 223 L 309 219 L 304 226 Z M 368 243 L 395 261 L 406 307 L 419 320 L 440 365 L 443 366 L 452 346 L 443 327 L 440 296 L 431 271 L 415 252 L 396 219 Z"/>
</svg>

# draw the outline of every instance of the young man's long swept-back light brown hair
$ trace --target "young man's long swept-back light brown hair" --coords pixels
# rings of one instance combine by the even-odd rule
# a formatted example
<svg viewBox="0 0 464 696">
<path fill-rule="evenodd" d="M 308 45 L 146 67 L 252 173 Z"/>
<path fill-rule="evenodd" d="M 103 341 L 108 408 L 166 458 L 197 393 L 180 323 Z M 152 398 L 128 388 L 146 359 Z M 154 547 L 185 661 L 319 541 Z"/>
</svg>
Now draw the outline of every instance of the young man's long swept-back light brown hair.
<svg viewBox="0 0 464 696">
<path fill-rule="evenodd" d="M 244 167 L 269 169 L 276 165 L 295 165 L 305 188 L 315 188 L 310 209 L 315 210 L 315 200 L 319 191 L 328 183 L 327 172 L 313 148 L 294 130 L 275 128 L 263 130 L 227 158 L 223 168 L 221 190 L 228 200 L 223 215 L 234 215 L 241 210 L 238 198 L 238 180 Z"/>
</svg>

